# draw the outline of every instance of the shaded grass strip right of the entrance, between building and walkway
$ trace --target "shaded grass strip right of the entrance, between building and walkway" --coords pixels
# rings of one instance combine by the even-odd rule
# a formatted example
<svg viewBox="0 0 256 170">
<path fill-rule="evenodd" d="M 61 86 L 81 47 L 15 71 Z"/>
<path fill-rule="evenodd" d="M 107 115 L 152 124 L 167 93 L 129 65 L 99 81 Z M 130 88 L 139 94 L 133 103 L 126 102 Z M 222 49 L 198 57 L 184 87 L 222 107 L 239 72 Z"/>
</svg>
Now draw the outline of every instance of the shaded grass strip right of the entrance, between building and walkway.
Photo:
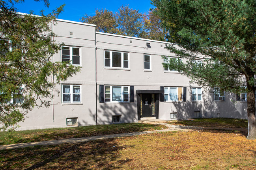
<svg viewBox="0 0 256 170">
<path fill-rule="evenodd" d="M 169 124 L 183 126 L 202 126 L 212 128 L 247 128 L 248 121 L 244 119 L 231 118 L 200 118 L 187 121 L 168 121 Z"/>
</svg>

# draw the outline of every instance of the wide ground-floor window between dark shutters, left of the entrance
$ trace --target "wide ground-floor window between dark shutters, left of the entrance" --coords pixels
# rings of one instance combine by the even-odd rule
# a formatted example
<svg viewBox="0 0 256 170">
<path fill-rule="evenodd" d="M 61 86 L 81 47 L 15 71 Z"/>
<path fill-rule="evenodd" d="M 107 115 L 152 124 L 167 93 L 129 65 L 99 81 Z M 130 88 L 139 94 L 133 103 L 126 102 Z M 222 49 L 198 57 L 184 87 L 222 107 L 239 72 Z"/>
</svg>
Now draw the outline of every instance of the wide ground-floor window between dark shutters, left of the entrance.
<svg viewBox="0 0 256 170">
<path fill-rule="evenodd" d="M 129 102 L 129 86 L 105 86 L 105 102 Z"/>
</svg>

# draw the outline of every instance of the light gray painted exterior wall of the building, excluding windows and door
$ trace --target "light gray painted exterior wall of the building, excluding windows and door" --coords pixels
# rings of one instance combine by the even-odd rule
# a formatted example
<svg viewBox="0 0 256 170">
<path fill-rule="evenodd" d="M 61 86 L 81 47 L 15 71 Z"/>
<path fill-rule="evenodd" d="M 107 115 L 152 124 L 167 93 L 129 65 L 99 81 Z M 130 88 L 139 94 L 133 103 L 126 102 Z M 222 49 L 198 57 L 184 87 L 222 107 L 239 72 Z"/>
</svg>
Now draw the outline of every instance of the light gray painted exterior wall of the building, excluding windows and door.
<svg viewBox="0 0 256 170">
<path fill-rule="evenodd" d="M 187 88 L 187 101 L 159 102 L 159 119 L 172 120 L 170 113 L 177 113 L 177 119 L 190 119 L 197 111 L 200 117 L 247 119 L 247 102 L 235 102 L 234 94 L 226 93 L 225 101 L 214 101 L 213 93 L 190 84 L 178 71 L 164 71 L 162 56 L 176 57 L 164 48 L 166 42 L 99 33 L 95 25 L 65 20 L 58 20 L 53 31 L 57 43 L 80 48 L 81 71 L 57 85 L 60 94 L 54 93 L 54 105 L 29 112 L 18 130 L 67 127 L 67 118 L 77 118 L 78 126 L 112 124 L 115 115 L 121 115 L 120 122 L 138 122 L 136 90 L 161 90 L 161 86 Z M 105 67 L 104 51 L 128 53 L 129 68 Z M 144 55 L 151 57 L 149 70 L 144 69 Z M 60 50 L 53 60 L 61 61 L 61 56 Z M 81 102 L 63 103 L 62 85 L 80 85 Z M 134 86 L 134 102 L 100 102 L 100 85 Z M 202 88 L 202 101 L 192 101 L 192 88 Z"/>
</svg>

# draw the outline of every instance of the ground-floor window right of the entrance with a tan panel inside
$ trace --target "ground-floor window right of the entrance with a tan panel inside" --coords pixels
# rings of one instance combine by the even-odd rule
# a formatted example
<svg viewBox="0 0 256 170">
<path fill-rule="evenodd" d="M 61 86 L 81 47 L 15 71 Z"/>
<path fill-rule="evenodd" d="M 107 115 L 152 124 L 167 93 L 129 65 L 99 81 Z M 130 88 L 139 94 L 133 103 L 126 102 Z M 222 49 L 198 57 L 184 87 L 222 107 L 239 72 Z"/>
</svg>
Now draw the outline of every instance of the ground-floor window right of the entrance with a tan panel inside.
<svg viewBox="0 0 256 170">
<path fill-rule="evenodd" d="M 182 87 L 164 87 L 164 101 L 182 101 Z"/>
</svg>

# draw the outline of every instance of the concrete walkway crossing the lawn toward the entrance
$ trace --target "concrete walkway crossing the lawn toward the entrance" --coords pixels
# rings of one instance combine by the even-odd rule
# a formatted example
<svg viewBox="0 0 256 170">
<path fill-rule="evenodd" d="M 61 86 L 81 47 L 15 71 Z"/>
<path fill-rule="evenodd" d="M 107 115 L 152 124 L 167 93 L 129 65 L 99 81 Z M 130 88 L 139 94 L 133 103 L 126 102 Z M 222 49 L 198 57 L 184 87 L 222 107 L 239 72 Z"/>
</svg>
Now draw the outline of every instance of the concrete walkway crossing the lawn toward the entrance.
<svg viewBox="0 0 256 170">
<path fill-rule="evenodd" d="M 98 139 L 109 139 L 109 138 L 115 138 L 115 137 L 143 135 L 143 134 L 147 134 L 147 133 L 170 132 L 170 131 L 188 132 L 188 131 L 194 131 L 194 130 L 211 129 L 211 128 L 202 128 L 202 127 L 194 127 L 194 126 L 176 126 L 176 125 L 172 125 L 172 124 L 168 124 L 168 123 L 156 123 L 156 124 L 165 125 L 168 128 L 162 129 L 162 130 L 145 131 L 145 132 L 133 132 L 133 133 L 121 133 L 121 134 L 103 135 L 103 136 L 60 139 L 60 140 L 56 140 L 56 141 L 41 141 L 41 142 L 30 142 L 30 143 L 6 144 L 6 145 L 0 145 L 0 150 L 14 149 L 14 148 L 25 148 L 25 147 L 36 146 L 36 145 L 45 146 L 45 145 L 55 145 L 55 144 L 62 144 L 62 143 L 78 143 L 78 142 L 93 141 L 93 140 L 98 140 Z"/>
</svg>

